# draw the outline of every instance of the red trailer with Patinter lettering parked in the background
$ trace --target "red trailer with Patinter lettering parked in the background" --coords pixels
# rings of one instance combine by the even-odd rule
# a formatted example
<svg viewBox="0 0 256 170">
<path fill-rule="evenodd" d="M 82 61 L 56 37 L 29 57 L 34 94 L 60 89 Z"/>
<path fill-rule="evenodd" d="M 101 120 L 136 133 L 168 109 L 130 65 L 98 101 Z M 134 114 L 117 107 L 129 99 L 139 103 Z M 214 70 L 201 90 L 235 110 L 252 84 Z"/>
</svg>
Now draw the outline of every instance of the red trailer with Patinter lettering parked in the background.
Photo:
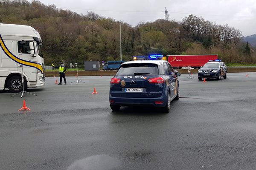
<svg viewBox="0 0 256 170">
<path fill-rule="evenodd" d="M 166 60 L 173 68 L 188 67 L 200 68 L 209 60 L 218 59 L 218 55 L 168 55 Z"/>
</svg>

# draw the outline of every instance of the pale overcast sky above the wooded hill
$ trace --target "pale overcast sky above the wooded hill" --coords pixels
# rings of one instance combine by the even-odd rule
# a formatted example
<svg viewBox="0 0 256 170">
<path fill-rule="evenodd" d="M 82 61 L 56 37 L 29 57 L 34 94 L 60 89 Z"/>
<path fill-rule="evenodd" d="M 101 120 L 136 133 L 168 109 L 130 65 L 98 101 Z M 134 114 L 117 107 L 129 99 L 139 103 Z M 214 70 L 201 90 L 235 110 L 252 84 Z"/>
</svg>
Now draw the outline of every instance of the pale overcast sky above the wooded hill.
<svg viewBox="0 0 256 170">
<path fill-rule="evenodd" d="M 238 28 L 244 36 L 256 34 L 256 0 L 40 0 L 45 5 L 70 9 L 79 14 L 93 11 L 103 17 L 124 20 L 136 26 L 139 22 L 164 19 L 181 21 L 189 14 L 219 25 Z"/>
</svg>

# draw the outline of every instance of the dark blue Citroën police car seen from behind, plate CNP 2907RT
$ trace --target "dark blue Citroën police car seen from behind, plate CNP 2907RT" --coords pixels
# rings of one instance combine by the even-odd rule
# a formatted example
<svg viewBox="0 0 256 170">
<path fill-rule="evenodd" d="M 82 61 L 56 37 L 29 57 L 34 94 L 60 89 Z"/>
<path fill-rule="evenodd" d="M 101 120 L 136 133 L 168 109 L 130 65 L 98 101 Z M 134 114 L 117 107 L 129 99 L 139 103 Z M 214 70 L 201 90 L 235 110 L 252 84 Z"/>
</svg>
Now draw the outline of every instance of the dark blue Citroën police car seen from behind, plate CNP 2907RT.
<svg viewBox="0 0 256 170">
<path fill-rule="evenodd" d="M 170 102 L 179 99 L 180 73 L 163 60 L 137 60 L 124 62 L 111 79 L 110 107 L 151 105 L 170 111 Z"/>
</svg>

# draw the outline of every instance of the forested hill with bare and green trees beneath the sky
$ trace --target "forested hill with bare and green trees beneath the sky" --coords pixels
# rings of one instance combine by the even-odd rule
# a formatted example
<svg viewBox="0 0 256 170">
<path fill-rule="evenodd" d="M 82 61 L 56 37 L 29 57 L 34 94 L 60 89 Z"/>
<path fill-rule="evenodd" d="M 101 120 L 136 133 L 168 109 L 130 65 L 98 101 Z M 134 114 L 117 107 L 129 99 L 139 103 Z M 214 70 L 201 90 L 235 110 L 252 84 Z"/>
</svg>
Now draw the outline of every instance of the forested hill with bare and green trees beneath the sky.
<svg viewBox="0 0 256 170">
<path fill-rule="evenodd" d="M 0 23 L 30 25 L 41 34 L 46 64 L 119 60 L 120 25 L 91 11 L 77 14 L 33 0 L 1 0 Z M 241 31 L 189 15 L 183 20 L 122 24 L 122 59 L 148 54 L 218 54 L 225 62 L 255 63 Z"/>
</svg>

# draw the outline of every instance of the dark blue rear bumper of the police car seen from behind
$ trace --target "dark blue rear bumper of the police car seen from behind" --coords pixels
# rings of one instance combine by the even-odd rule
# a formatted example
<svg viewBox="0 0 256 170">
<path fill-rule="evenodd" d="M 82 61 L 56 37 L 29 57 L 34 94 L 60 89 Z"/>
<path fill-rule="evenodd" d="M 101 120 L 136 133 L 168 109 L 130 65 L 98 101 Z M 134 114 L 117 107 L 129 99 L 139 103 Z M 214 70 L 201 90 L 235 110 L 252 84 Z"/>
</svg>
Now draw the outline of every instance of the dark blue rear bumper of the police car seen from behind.
<svg viewBox="0 0 256 170">
<path fill-rule="evenodd" d="M 142 105 L 150 105 L 154 107 L 164 107 L 167 103 L 167 97 L 160 96 L 157 98 L 124 98 L 124 97 L 113 97 L 109 95 L 109 101 L 111 105 L 119 105 L 119 106 L 142 106 Z M 163 101 L 163 104 L 155 104 L 155 101 Z"/>
</svg>

